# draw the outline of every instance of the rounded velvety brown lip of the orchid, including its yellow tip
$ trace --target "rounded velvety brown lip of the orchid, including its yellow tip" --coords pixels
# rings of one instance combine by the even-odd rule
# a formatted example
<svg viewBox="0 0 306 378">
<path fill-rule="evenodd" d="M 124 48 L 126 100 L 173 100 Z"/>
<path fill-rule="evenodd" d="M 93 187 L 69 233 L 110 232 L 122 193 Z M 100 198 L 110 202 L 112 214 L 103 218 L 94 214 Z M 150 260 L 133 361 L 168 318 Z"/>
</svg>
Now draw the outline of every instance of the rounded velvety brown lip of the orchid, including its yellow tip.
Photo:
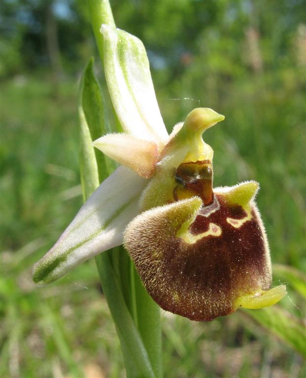
<svg viewBox="0 0 306 378">
<path fill-rule="evenodd" d="M 256 188 L 251 182 L 235 190 L 254 194 Z M 269 247 L 253 200 L 229 206 L 229 199 L 233 189 L 214 191 L 207 206 L 199 197 L 180 200 L 148 210 L 127 226 L 126 248 L 164 310 L 207 321 L 240 306 L 272 305 L 285 294 L 283 288 L 268 291 Z"/>
</svg>

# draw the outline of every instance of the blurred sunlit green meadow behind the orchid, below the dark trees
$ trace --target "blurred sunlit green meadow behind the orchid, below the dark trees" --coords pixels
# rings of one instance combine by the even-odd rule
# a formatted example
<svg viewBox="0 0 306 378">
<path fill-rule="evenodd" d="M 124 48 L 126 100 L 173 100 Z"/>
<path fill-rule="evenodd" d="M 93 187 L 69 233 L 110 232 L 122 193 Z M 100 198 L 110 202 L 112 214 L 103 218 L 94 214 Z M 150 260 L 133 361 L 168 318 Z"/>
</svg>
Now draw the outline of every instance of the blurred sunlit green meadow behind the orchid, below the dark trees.
<svg viewBox="0 0 306 378">
<path fill-rule="evenodd" d="M 124 15 L 119 5 L 114 3 L 120 27 L 140 34 L 152 49 L 156 35 L 152 37 L 145 27 L 141 32 L 141 25 L 128 24 L 132 17 L 128 2 L 121 4 Z M 159 20 L 163 22 L 162 15 Z M 246 63 L 235 59 L 226 65 L 224 48 L 235 33 L 217 43 L 213 35 L 209 39 L 210 32 L 201 36 L 197 31 L 199 54 L 185 55 L 187 66 L 175 76 L 167 65 L 158 67 L 149 51 L 165 123 L 170 131 L 199 104 L 226 116 L 204 134 L 214 149 L 214 186 L 258 181 L 257 202 L 272 263 L 305 273 L 305 65 L 293 55 L 294 49 L 282 54 L 277 50 L 277 55 L 276 37 L 270 34 L 261 43 L 263 69 L 245 68 Z M 281 32 L 280 39 L 286 30 Z M 205 48 L 211 51 L 208 56 L 201 50 Z M 172 52 L 166 50 L 170 59 Z M 78 74 L 64 76 L 56 91 L 46 70 L 25 70 L 1 81 L 3 378 L 125 376 L 94 262 L 82 264 L 47 287 L 36 287 L 31 278 L 34 262 L 58 239 L 82 204 L 76 109 L 81 64 Z M 101 73 L 99 63 L 96 67 Z M 273 285 L 286 282 L 281 274 L 273 280 Z M 305 301 L 290 282 L 288 293 L 281 306 L 305 318 Z M 162 323 L 166 378 L 306 377 L 302 356 L 242 311 L 208 323 L 163 313 Z"/>
</svg>

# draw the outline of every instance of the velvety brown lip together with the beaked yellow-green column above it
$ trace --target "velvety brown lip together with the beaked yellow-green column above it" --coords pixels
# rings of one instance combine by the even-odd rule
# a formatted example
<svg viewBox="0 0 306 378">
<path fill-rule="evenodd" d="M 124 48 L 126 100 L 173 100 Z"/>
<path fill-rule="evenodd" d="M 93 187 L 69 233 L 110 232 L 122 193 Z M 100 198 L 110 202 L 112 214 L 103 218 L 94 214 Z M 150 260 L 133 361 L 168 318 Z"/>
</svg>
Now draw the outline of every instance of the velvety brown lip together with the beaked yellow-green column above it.
<svg viewBox="0 0 306 378">
<path fill-rule="evenodd" d="M 224 117 L 215 113 L 209 121 L 211 115 L 211 109 L 193 110 L 165 146 L 141 198 L 148 210 L 125 231 L 125 246 L 152 298 L 192 320 L 270 306 L 285 294 L 283 285 L 269 290 L 268 241 L 254 202 L 258 184 L 212 188 L 212 149 L 201 134 Z M 185 140 L 192 150 L 182 149 Z"/>
</svg>

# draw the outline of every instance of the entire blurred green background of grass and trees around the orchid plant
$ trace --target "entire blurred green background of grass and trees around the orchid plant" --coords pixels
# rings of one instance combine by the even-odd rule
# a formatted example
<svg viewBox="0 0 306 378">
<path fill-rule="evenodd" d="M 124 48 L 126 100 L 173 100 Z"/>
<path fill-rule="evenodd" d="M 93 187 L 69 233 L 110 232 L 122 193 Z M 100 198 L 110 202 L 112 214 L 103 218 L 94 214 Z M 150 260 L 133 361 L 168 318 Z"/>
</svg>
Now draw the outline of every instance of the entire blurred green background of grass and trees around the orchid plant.
<svg viewBox="0 0 306 378">
<path fill-rule="evenodd" d="M 214 186 L 260 182 L 274 264 L 305 272 L 306 1 L 111 1 L 138 36 L 169 130 L 198 106 L 226 120 L 205 133 Z M 93 261 L 48 287 L 31 267 L 82 203 L 77 94 L 96 56 L 81 0 L 3 0 L 1 376 L 124 377 Z M 277 273 L 277 269 L 276 269 Z M 305 316 L 294 284 L 282 301 Z M 165 377 L 304 378 L 302 357 L 245 313 L 199 323 L 163 313 Z"/>
</svg>

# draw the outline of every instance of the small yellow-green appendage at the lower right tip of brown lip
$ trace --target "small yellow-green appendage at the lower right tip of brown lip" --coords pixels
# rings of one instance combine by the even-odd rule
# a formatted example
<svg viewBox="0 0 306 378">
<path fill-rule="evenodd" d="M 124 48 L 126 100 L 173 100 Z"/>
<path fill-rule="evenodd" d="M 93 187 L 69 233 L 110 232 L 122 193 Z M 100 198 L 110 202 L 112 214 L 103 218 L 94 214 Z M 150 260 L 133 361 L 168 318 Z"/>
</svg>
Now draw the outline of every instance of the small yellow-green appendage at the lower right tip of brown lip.
<svg viewBox="0 0 306 378">
<path fill-rule="evenodd" d="M 236 306 L 246 309 L 261 309 L 269 307 L 280 301 L 287 294 L 286 286 L 279 285 L 270 290 L 258 291 L 252 295 L 241 296 L 236 301 Z"/>
</svg>

